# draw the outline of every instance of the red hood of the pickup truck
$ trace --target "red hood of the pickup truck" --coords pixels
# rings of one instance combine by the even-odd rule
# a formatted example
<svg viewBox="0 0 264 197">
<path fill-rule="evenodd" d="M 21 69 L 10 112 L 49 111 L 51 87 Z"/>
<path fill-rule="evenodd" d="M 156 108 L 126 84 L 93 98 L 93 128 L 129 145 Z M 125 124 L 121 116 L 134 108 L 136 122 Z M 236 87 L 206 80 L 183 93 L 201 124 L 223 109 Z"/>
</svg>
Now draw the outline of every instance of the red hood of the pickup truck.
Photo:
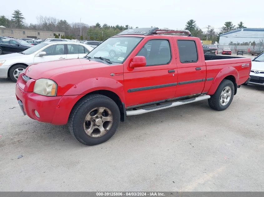
<svg viewBox="0 0 264 197">
<path fill-rule="evenodd" d="M 58 73 L 95 68 L 95 67 L 100 67 L 102 65 L 105 64 L 100 62 L 95 62 L 92 60 L 89 61 L 87 59 L 56 60 L 56 61 L 32 64 L 31 66 L 26 68 L 24 74 L 35 80 L 40 78 L 48 79 Z"/>
</svg>

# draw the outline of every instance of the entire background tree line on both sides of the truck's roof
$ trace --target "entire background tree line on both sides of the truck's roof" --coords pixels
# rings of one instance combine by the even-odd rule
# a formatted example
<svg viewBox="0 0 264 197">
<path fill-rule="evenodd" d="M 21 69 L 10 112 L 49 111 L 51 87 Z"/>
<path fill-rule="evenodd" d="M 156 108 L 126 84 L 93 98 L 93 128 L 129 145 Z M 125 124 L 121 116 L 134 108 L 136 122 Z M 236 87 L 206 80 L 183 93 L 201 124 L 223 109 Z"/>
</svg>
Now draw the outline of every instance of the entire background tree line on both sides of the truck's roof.
<svg viewBox="0 0 264 197">
<path fill-rule="evenodd" d="M 81 22 L 68 23 L 66 20 L 59 20 L 52 16 L 40 15 L 36 18 L 36 24 L 27 24 L 25 22 L 23 14 L 19 10 L 15 10 L 12 13 L 11 19 L 8 19 L 4 15 L 0 16 L 0 25 L 8 28 L 60 31 L 65 32 L 65 36 L 62 36 L 62 38 L 80 40 L 106 40 L 107 38 L 116 35 L 123 30 L 133 28 L 128 25 L 109 26 L 106 23 L 103 25 L 101 25 L 100 23 L 96 23 L 92 26 Z M 185 25 L 185 29 L 189 30 L 193 36 L 199 37 L 201 40 L 212 40 L 213 43 L 215 41 L 219 42 L 220 34 L 240 28 L 247 28 L 244 26 L 242 21 L 239 22 L 237 26 L 235 26 L 231 21 L 225 22 L 224 26 L 222 26 L 221 31 L 219 33 L 217 33 L 214 28 L 208 28 L 208 31 L 203 31 L 199 28 L 199 26 L 197 26 L 196 21 L 193 19 L 187 21 Z"/>
</svg>

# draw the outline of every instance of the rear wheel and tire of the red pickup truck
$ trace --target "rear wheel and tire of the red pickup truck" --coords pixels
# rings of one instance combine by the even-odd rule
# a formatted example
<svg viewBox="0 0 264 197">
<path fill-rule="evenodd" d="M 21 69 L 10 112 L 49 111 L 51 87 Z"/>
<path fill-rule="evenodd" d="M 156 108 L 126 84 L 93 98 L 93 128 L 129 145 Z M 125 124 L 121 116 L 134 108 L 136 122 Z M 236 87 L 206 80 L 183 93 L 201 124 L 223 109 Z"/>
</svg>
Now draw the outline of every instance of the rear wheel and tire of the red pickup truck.
<svg viewBox="0 0 264 197">
<path fill-rule="evenodd" d="M 226 93 L 224 93 L 226 92 Z M 234 97 L 235 87 L 232 81 L 224 79 L 216 92 L 208 99 L 209 106 L 218 111 L 227 109 Z M 227 101 L 227 102 L 226 102 Z"/>
</svg>

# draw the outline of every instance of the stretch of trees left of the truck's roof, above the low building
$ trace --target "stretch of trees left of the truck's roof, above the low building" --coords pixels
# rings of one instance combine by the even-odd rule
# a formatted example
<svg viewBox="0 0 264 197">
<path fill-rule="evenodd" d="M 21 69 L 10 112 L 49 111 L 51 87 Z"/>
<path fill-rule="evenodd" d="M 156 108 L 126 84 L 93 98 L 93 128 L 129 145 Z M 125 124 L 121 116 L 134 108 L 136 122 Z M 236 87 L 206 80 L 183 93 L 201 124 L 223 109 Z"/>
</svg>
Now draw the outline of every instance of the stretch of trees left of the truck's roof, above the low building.
<svg viewBox="0 0 264 197">
<path fill-rule="evenodd" d="M 109 26 L 100 23 L 95 25 L 88 25 L 82 22 L 68 23 L 66 20 L 57 19 L 52 16 L 37 16 L 37 23 L 27 24 L 25 17 L 19 10 L 15 10 L 11 19 L 6 16 L 0 16 L 0 26 L 7 28 L 31 29 L 31 30 L 46 30 L 46 31 L 59 31 L 65 32 L 61 38 L 66 39 L 91 39 L 91 40 L 106 40 L 107 38 L 118 34 L 119 32 L 132 28 L 131 26 Z M 56 36 L 57 37 L 57 36 Z"/>
</svg>

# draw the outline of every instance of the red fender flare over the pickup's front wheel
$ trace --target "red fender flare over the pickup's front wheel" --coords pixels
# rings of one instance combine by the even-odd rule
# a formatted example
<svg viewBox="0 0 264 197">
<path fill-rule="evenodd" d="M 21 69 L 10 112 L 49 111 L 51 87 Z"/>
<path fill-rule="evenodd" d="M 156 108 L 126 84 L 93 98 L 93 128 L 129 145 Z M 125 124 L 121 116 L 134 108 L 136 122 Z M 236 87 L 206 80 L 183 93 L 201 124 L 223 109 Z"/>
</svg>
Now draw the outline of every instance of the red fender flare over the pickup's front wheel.
<svg viewBox="0 0 264 197">
<path fill-rule="evenodd" d="M 97 90 L 108 90 L 114 92 L 121 100 L 125 102 L 124 87 L 119 81 L 107 77 L 89 78 L 73 85 L 65 96 L 68 95 L 85 95 Z"/>
</svg>

